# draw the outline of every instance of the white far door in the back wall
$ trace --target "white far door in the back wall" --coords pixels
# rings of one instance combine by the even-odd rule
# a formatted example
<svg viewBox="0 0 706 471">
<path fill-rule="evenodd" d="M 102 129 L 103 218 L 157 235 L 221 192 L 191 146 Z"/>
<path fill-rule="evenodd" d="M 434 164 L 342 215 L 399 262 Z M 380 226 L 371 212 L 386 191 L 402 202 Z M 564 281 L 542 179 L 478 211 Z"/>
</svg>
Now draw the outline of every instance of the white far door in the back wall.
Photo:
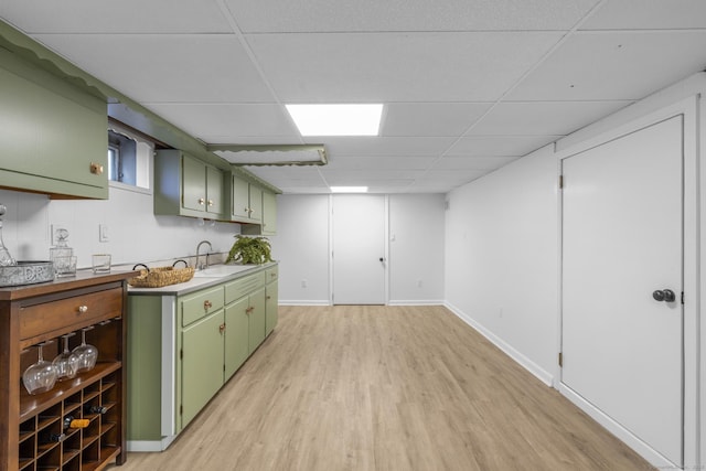
<svg viewBox="0 0 706 471">
<path fill-rule="evenodd" d="M 333 303 L 385 303 L 385 196 L 333 195 Z"/>
</svg>

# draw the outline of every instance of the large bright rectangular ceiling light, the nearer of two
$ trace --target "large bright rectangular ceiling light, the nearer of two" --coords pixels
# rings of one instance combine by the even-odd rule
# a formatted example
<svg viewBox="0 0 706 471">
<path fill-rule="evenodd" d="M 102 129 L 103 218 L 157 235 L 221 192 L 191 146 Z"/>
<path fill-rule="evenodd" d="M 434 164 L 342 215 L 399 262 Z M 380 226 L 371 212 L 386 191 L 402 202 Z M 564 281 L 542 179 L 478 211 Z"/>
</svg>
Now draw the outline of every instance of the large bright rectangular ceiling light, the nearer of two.
<svg viewBox="0 0 706 471">
<path fill-rule="evenodd" d="M 287 105 L 301 136 L 377 136 L 383 105 Z"/>
</svg>

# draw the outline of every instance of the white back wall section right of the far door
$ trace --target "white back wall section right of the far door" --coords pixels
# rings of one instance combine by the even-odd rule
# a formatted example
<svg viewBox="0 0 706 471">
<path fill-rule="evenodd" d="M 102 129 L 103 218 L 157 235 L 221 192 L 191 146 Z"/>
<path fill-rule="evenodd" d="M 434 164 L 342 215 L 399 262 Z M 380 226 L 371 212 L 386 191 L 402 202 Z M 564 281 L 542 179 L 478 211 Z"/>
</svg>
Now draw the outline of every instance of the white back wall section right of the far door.
<svg viewBox="0 0 706 471">
<path fill-rule="evenodd" d="M 443 303 L 442 194 L 389 195 L 389 303 Z"/>
</svg>

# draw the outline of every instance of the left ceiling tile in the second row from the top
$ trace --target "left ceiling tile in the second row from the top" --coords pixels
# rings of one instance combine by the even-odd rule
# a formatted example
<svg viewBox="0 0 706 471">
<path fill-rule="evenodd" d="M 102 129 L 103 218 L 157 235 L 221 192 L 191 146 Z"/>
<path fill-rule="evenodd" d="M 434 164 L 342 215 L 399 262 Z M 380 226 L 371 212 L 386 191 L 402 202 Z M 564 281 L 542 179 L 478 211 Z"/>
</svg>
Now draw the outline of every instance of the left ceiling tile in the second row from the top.
<svg viewBox="0 0 706 471">
<path fill-rule="evenodd" d="M 36 38 L 138 101 L 272 101 L 233 35 L 40 34 Z"/>
</svg>

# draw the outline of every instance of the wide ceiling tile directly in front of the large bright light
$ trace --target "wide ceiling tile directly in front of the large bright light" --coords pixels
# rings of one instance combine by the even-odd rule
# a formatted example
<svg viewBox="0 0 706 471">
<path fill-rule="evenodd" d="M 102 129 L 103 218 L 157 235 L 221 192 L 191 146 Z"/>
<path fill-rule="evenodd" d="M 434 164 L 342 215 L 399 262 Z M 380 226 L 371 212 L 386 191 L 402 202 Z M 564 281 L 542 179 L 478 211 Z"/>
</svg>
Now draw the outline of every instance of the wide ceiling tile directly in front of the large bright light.
<svg viewBox="0 0 706 471">
<path fill-rule="evenodd" d="M 285 103 L 493 101 L 560 33 L 256 34 Z"/>
</svg>

